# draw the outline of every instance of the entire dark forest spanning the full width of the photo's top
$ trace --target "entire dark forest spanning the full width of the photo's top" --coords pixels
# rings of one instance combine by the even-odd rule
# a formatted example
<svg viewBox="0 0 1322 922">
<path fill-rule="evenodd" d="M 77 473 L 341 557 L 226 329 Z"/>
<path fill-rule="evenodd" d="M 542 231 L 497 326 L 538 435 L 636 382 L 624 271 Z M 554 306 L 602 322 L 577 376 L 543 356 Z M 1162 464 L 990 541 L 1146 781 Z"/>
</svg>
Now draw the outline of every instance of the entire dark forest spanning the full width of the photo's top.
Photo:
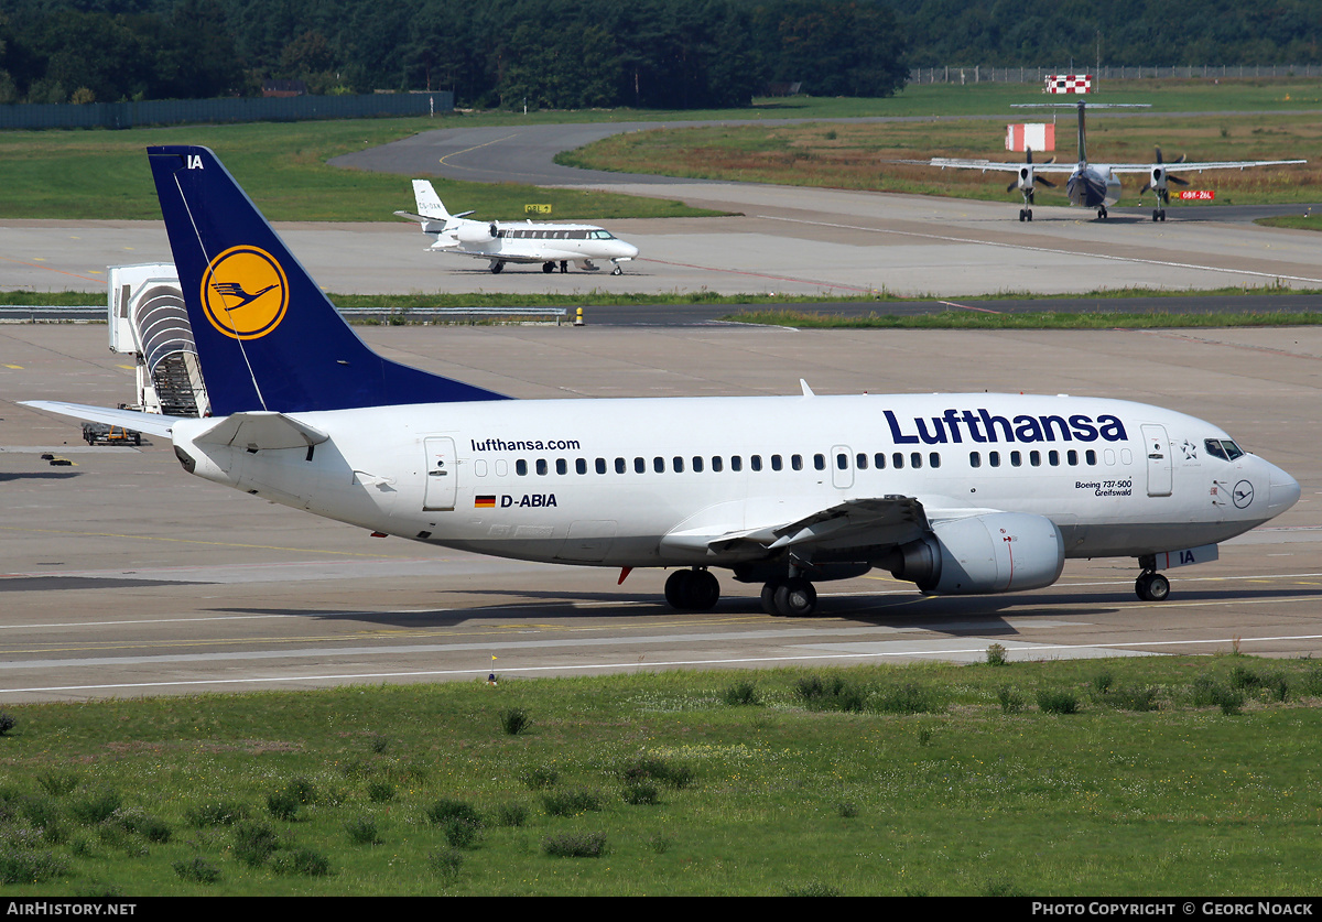
<svg viewBox="0 0 1322 922">
<path fill-rule="evenodd" d="M 453 90 L 463 107 L 886 96 L 912 66 L 1310 63 L 1318 0 L 7 0 L 0 103 Z"/>
</svg>

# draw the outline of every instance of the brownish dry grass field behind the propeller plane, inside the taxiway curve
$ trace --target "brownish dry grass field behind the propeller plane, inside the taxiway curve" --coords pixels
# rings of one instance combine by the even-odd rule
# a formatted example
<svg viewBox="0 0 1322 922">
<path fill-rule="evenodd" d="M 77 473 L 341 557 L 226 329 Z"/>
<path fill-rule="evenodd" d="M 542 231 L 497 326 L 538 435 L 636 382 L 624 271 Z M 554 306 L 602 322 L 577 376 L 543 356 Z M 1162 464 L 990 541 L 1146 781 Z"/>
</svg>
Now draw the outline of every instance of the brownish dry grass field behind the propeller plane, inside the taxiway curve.
<svg viewBox="0 0 1322 922">
<path fill-rule="evenodd" d="M 571 166 L 664 173 L 710 180 L 863 189 L 1002 201 L 1005 178 L 978 170 L 936 170 L 932 156 L 1011 160 L 1003 149 L 1005 124 L 1056 120 L 1056 152 L 1073 160 L 1073 114 L 1014 110 L 1011 103 L 1047 102 L 1036 86 L 923 86 L 906 90 L 904 104 L 875 115 L 928 115 L 907 123 L 824 123 L 796 125 L 657 129 L 616 135 L 557 161 Z M 921 99 L 921 104 L 917 100 Z M 787 100 L 787 106 L 793 100 Z M 874 103 L 892 100 L 873 100 Z M 894 100 L 899 103 L 900 100 Z M 1059 102 L 1059 98 L 1052 98 Z M 1322 81 L 1129 81 L 1112 83 L 1096 102 L 1147 102 L 1144 114 L 1093 112 L 1088 152 L 1099 162 L 1150 162 L 1161 145 L 1174 160 L 1278 160 L 1307 157 L 1322 141 Z M 788 111 L 788 110 L 787 110 Z M 805 106 L 806 118 L 828 118 L 828 107 Z M 851 114 L 863 115 L 863 107 Z M 1192 115 L 1190 115 L 1192 114 Z M 943 116 L 937 120 L 936 116 Z M 961 118 L 969 116 L 969 118 Z M 992 116 L 992 118 L 973 118 Z M 1042 157 L 1039 156 L 1039 160 Z M 906 162 L 906 161 L 920 161 Z M 1175 170 L 1177 174 L 1178 170 Z M 1142 177 L 1130 177 L 1122 203 L 1133 205 Z M 1315 202 L 1322 168 L 1297 165 L 1188 174 L 1198 189 L 1216 192 L 1216 205 Z M 1039 205 L 1064 205 L 1063 182 L 1040 188 Z M 1147 199 L 1151 202 L 1151 197 Z"/>
</svg>

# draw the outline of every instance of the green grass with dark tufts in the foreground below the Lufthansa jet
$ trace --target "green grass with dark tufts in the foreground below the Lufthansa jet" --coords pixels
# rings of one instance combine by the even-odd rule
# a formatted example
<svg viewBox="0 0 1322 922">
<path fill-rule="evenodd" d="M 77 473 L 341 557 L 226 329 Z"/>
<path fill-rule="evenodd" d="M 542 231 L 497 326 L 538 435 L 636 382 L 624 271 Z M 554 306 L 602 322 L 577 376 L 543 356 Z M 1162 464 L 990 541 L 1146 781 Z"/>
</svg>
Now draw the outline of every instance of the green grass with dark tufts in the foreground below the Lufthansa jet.
<svg viewBox="0 0 1322 922">
<path fill-rule="evenodd" d="M 1272 682 L 1237 680 L 1245 671 Z M 4 889 L 1289 896 L 1322 885 L 1322 667 L 1309 660 L 747 676 L 756 704 L 726 704 L 718 672 L 664 672 L 20 705 L 0 738 Z M 1243 704 L 1223 713 L 1206 690 L 1236 682 Z M 850 707 L 805 703 L 813 684 Z M 1155 709 L 1133 708 L 1129 688 L 1155 690 Z M 1022 709 L 1002 709 L 1006 690 Z M 896 695 L 923 707 L 895 708 Z M 1077 713 L 1031 704 L 1052 695 Z M 510 707 L 535 721 L 520 736 L 498 724 Z M 52 771 L 75 774 L 77 787 L 48 793 L 36 778 Z M 534 775 L 551 781 L 534 787 Z M 395 797 L 374 800 L 383 781 Z M 272 793 L 295 790 L 293 819 L 268 814 Z M 112 800 L 108 818 L 87 819 L 87 803 Z M 456 824 L 472 835 L 455 836 Z"/>
</svg>

